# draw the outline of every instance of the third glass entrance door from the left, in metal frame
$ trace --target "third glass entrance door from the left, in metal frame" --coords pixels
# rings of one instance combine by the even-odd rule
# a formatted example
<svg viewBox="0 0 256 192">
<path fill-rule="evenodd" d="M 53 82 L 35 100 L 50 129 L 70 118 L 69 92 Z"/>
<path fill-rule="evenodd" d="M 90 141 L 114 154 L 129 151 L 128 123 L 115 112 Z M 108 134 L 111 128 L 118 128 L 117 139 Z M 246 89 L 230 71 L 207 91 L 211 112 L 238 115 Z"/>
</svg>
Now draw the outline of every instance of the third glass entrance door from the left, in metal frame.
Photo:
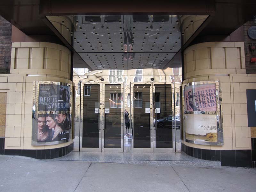
<svg viewBox="0 0 256 192">
<path fill-rule="evenodd" d="M 132 151 L 153 152 L 152 83 L 131 84 Z"/>
</svg>

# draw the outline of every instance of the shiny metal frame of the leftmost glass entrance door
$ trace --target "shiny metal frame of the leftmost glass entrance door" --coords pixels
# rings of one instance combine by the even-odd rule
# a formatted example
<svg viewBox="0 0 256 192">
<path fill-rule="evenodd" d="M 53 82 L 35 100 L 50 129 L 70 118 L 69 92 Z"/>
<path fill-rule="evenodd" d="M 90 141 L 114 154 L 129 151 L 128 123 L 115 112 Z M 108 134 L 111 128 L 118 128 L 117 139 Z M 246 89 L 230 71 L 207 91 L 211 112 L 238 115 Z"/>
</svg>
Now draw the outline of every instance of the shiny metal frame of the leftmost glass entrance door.
<svg viewBox="0 0 256 192">
<path fill-rule="evenodd" d="M 99 148 L 83 148 L 83 110 L 84 110 L 84 86 L 99 86 L 100 85 L 100 108 L 99 108 Z M 96 82 L 86 82 L 81 83 L 81 102 L 80 102 L 80 151 L 85 152 L 101 152 L 101 142 L 102 142 L 102 83 L 96 83 Z"/>
</svg>

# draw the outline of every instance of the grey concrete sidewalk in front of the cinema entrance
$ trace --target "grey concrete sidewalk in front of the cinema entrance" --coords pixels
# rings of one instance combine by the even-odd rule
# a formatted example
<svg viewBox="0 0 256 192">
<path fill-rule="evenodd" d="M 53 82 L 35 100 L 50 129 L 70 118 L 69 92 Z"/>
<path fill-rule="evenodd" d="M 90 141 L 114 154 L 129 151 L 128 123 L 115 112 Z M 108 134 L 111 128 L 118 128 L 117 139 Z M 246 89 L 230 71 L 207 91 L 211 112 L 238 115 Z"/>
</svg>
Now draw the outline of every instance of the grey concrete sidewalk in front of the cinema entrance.
<svg viewBox="0 0 256 192">
<path fill-rule="evenodd" d="M 37 160 L 0 155 L 0 191 L 255 191 L 256 169 Z"/>
</svg>

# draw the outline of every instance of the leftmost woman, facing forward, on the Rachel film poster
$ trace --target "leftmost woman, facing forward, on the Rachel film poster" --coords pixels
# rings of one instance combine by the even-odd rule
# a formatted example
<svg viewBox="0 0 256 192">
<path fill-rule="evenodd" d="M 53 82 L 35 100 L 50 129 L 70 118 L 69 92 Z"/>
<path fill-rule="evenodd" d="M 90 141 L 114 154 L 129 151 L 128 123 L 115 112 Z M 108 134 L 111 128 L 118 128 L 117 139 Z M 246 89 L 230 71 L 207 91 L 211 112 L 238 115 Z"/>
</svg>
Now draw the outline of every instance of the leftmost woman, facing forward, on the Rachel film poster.
<svg viewBox="0 0 256 192">
<path fill-rule="evenodd" d="M 45 116 L 38 115 L 37 118 L 37 142 L 51 141 L 52 132 L 45 125 Z"/>
</svg>

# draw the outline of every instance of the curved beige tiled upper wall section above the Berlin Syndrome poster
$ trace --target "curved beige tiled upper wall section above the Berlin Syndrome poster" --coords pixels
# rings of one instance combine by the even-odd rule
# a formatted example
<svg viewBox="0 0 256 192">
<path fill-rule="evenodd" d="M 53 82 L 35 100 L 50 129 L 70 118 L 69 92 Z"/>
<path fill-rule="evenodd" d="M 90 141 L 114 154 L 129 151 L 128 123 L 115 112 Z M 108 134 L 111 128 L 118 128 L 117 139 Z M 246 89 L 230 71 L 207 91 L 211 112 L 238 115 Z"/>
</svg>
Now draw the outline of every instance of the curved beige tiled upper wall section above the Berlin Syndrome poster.
<svg viewBox="0 0 256 192">
<path fill-rule="evenodd" d="M 47 74 L 69 79 L 70 66 L 70 51 L 62 45 L 46 42 L 12 43 L 11 74 Z"/>
</svg>

